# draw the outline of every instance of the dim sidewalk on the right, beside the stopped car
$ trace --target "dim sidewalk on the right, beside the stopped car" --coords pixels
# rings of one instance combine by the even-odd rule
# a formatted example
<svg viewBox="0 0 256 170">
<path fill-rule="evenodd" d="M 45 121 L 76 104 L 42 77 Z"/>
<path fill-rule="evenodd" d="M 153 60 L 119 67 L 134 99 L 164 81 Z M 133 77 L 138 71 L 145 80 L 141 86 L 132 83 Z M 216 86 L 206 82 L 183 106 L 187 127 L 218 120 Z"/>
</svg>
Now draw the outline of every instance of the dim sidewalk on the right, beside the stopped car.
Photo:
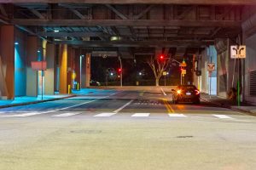
<svg viewBox="0 0 256 170">
<path fill-rule="evenodd" d="M 212 104 L 219 105 L 225 108 L 229 108 L 234 111 L 243 111 L 243 112 L 247 112 L 249 115 L 256 116 L 256 105 L 241 103 L 241 106 L 237 106 L 236 101 L 223 99 L 218 96 L 211 96 L 211 99 L 210 99 L 210 96 L 208 94 L 201 94 L 201 100 L 207 101 Z"/>
</svg>

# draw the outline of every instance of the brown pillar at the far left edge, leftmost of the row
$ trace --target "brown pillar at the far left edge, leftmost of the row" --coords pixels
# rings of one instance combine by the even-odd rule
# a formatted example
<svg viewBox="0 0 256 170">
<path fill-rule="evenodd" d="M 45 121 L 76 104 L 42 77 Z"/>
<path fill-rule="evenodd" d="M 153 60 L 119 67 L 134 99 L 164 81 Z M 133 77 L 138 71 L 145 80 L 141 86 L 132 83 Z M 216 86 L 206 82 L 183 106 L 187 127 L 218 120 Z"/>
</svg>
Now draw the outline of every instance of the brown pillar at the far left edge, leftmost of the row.
<svg viewBox="0 0 256 170">
<path fill-rule="evenodd" d="M 15 98 L 15 27 L 1 26 L 0 91 L 6 99 Z"/>
</svg>

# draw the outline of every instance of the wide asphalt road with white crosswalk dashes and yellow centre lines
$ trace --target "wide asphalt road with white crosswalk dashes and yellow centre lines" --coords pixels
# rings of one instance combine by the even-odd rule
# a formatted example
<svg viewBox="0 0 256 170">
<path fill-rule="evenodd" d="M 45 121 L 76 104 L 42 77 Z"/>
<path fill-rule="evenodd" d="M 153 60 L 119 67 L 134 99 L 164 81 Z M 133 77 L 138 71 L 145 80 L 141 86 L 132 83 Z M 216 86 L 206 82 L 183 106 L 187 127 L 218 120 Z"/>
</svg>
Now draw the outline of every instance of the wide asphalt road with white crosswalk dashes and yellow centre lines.
<svg viewBox="0 0 256 170">
<path fill-rule="evenodd" d="M 0 169 L 250 170 L 256 117 L 152 90 L 0 110 Z"/>
</svg>

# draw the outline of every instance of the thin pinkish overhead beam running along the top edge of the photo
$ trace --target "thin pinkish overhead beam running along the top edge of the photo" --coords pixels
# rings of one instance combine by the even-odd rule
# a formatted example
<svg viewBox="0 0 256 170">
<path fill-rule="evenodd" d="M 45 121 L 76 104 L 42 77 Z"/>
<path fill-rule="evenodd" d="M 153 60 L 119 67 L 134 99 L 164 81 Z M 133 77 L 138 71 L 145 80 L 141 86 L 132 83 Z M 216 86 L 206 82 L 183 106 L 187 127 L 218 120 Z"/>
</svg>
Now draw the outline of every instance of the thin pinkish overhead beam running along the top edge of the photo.
<svg viewBox="0 0 256 170">
<path fill-rule="evenodd" d="M 255 5 L 255 0 L 0 0 L 0 3 L 90 3 L 90 4 L 205 4 Z"/>
</svg>

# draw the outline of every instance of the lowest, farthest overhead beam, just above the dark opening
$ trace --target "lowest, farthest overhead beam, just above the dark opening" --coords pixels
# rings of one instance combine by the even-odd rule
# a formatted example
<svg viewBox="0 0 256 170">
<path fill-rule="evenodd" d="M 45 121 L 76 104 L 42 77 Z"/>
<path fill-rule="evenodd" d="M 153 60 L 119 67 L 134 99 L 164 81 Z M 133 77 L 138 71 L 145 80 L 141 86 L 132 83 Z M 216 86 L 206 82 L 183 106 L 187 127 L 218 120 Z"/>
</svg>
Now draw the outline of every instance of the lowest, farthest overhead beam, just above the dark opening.
<svg viewBox="0 0 256 170">
<path fill-rule="evenodd" d="M 194 41 L 194 40 L 174 40 L 174 41 L 55 41 L 56 44 L 68 44 L 75 46 L 82 46 L 88 48 L 96 47 L 202 47 L 213 44 L 213 40 L 208 41 Z"/>
</svg>

